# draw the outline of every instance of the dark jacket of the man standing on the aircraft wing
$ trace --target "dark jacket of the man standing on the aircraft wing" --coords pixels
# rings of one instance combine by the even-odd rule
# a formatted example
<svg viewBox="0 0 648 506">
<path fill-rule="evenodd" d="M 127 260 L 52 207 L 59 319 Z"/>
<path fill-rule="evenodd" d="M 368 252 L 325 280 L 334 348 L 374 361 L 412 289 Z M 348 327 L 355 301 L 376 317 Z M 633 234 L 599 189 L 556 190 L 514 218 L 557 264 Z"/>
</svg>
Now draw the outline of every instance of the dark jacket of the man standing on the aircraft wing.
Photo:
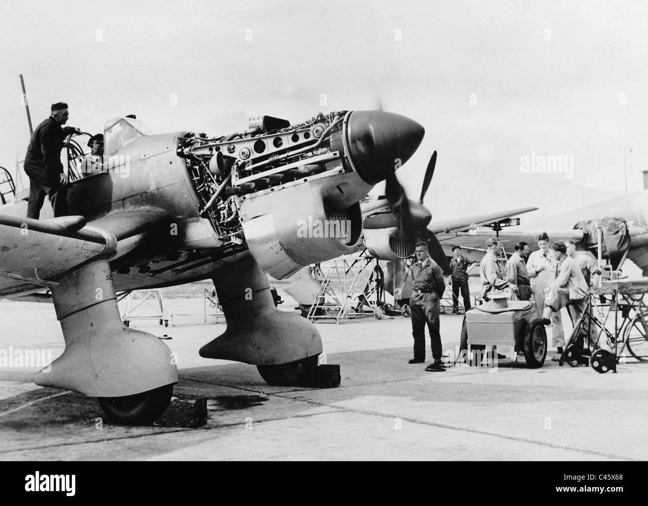
<svg viewBox="0 0 648 506">
<path fill-rule="evenodd" d="M 73 127 L 62 128 L 52 116 L 36 127 L 25 155 L 25 173 L 30 179 L 46 186 L 58 184 L 63 173 L 63 141 L 74 130 Z"/>
</svg>

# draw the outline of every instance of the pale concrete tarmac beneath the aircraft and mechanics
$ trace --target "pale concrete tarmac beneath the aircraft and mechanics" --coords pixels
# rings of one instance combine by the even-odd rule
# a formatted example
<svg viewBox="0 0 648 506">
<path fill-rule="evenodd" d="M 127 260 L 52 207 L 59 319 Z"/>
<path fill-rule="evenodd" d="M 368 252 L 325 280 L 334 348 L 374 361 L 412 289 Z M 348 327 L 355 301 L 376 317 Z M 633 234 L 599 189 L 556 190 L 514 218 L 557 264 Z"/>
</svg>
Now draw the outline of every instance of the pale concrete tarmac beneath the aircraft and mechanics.
<svg viewBox="0 0 648 506">
<path fill-rule="evenodd" d="M 286 298 L 284 311 L 292 311 Z M 179 397 L 206 397 L 202 428 L 123 427 L 104 419 L 96 399 L 41 388 L 38 368 L 0 367 L 0 459 L 10 460 L 645 460 L 648 364 L 618 373 L 544 367 L 524 358 L 496 368 L 428 373 L 412 356 L 410 320 L 373 317 L 316 324 L 341 386 L 273 387 L 255 366 L 198 356 L 226 328 L 203 322 L 203 300 L 167 299 L 174 314 L 132 327 L 178 355 Z M 462 316 L 441 315 L 446 353 L 459 344 Z M 0 350 L 64 349 L 47 303 L 0 301 Z M 564 314 L 563 322 L 569 322 Z M 565 331 L 569 328 L 566 323 Z M 549 331 L 551 343 L 551 332 Z M 428 346 L 428 359 L 432 359 Z M 12 347 L 12 348 L 10 348 Z"/>
</svg>

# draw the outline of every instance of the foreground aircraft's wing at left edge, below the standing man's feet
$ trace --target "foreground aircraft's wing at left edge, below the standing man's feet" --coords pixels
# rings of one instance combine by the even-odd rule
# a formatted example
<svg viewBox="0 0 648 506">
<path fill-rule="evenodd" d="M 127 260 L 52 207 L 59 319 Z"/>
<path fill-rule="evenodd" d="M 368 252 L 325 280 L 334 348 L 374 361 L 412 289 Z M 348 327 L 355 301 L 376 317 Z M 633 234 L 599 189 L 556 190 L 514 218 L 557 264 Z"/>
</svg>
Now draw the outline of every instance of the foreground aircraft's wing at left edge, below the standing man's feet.
<svg viewBox="0 0 648 506">
<path fill-rule="evenodd" d="M 40 221 L 0 215 L 0 298 L 41 291 L 77 265 L 114 254 L 117 239 L 81 216 Z"/>
</svg>

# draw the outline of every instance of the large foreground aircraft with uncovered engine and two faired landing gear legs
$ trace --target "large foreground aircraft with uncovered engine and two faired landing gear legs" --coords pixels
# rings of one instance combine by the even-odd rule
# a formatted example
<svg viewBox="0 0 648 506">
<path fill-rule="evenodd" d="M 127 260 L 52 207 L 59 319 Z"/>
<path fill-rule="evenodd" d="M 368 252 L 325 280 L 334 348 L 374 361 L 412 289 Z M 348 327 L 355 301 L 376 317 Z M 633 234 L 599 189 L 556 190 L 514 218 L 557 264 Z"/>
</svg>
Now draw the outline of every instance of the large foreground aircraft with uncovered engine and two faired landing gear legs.
<svg viewBox="0 0 648 506">
<path fill-rule="evenodd" d="M 176 363 L 155 336 L 122 324 L 116 292 L 211 278 L 227 329 L 200 355 L 256 364 L 271 384 L 303 384 L 318 369 L 319 333 L 275 308 L 264 272 L 281 279 L 354 250 L 360 200 L 423 135 L 383 111 L 295 125 L 260 116 L 219 137 L 109 120 L 104 170 L 71 183 L 71 216 L 46 219 L 43 209 L 40 221 L 27 219 L 22 199 L 0 207 L 0 297 L 51 289 L 64 333 L 63 355 L 36 383 L 98 397 L 115 421 L 154 421 Z M 304 237 L 309 219 L 351 223 L 349 236 Z"/>
</svg>

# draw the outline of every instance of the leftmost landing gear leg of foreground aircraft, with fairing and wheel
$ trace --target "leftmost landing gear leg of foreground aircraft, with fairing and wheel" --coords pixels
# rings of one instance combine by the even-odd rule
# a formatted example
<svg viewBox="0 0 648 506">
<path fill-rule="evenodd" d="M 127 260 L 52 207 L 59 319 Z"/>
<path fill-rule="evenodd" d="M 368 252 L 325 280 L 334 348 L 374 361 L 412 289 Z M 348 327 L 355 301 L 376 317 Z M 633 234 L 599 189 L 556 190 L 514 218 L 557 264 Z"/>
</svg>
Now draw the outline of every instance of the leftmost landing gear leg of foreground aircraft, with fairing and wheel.
<svg viewBox="0 0 648 506">
<path fill-rule="evenodd" d="M 117 423 L 152 423 L 178 382 L 176 360 L 156 336 L 122 324 L 108 260 L 67 274 L 52 298 L 65 351 L 36 384 L 98 397 Z"/>
</svg>

